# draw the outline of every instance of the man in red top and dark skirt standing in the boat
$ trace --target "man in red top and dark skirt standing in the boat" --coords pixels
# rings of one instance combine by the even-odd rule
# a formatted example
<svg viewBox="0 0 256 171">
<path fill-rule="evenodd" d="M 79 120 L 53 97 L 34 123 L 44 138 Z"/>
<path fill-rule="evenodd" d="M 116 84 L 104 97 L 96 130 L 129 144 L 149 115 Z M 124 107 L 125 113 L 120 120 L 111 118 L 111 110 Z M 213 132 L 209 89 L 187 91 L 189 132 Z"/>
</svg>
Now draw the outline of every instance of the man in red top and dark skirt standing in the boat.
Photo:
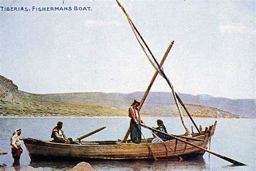
<svg viewBox="0 0 256 171">
<path fill-rule="evenodd" d="M 131 129 L 131 140 L 133 143 L 139 144 L 142 140 L 142 132 L 141 132 L 141 120 L 140 115 L 138 111 L 138 106 L 140 105 L 140 102 L 136 101 L 136 99 L 133 101 L 129 108 L 129 117 L 131 118 L 130 122 L 130 129 Z"/>
</svg>

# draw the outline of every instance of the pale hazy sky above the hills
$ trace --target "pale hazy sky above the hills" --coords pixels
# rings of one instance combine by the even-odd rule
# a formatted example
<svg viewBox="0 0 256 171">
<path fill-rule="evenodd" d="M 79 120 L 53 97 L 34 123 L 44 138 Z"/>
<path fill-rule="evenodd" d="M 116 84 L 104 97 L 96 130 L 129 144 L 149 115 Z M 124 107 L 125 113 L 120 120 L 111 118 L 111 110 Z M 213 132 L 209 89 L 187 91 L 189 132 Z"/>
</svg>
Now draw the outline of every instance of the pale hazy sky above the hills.
<svg viewBox="0 0 256 171">
<path fill-rule="evenodd" d="M 254 1 L 120 1 L 177 92 L 255 98 Z M 0 1 L 0 75 L 33 93 L 145 91 L 155 70 L 115 1 Z M 31 11 L 6 11 L 6 7 Z M 32 11 L 32 6 L 71 11 Z M 91 11 L 74 11 L 90 6 Z M 14 9 L 14 8 L 13 8 Z M 152 91 L 170 91 L 160 76 Z"/>
</svg>

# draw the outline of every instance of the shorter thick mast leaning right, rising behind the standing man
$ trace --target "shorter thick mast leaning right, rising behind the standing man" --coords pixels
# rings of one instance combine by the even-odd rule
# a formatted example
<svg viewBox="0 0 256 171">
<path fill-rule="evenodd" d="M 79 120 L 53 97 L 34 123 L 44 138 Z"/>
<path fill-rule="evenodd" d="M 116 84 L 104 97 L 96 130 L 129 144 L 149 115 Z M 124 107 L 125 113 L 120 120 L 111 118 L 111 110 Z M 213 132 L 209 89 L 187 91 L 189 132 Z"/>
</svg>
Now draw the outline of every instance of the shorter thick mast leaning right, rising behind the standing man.
<svg viewBox="0 0 256 171">
<path fill-rule="evenodd" d="M 167 55 L 169 54 L 169 52 L 170 52 L 170 50 L 171 50 L 171 48 L 172 48 L 173 42 L 174 42 L 174 41 L 172 40 L 171 43 L 170 43 L 170 45 L 169 45 L 169 47 L 166 49 L 165 54 L 164 54 L 164 56 L 163 56 L 163 59 L 162 59 L 161 62 L 160 62 L 160 66 L 163 66 L 164 61 L 165 61 L 165 59 L 167 58 Z M 147 87 L 147 90 L 145 91 L 145 94 L 144 94 L 144 96 L 143 96 L 143 98 L 142 98 L 142 101 L 140 101 L 140 105 L 139 105 L 138 111 L 140 111 L 140 109 L 142 109 L 142 105 L 143 105 L 143 103 L 145 102 L 146 97 L 147 97 L 147 95 L 149 94 L 149 91 L 150 91 L 150 89 L 151 89 L 151 87 L 152 87 L 152 85 L 153 85 L 154 80 L 156 80 L 157 75 L 158 75 L 158 72 L 154 73 L 154 76 L 152 77 L 152 80 L 151 80 L 151 82 L 150 82 L 150 84 L 149 84 L 149 87 Z M 131 132 L 131 129 L 130 129 L 130 127 L 129 127 L 129 129 L 128 129 L 128 130 L 126 131 L 126 133 L 125 133 L 125 136 L 124 136 L 124 138 L 123 138 L 122 143 L 126 143 L 126 140 L 127 140 L 128 136 L 129 136 L 130 132 Z"/>
</svg>

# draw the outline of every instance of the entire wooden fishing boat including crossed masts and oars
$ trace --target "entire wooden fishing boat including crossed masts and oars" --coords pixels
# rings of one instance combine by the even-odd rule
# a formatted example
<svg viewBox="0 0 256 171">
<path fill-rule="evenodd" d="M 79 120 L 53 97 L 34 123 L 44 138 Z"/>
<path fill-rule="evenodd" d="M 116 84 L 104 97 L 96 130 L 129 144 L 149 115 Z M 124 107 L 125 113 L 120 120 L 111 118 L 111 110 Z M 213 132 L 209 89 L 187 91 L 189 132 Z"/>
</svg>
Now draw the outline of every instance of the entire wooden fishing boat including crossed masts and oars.
<svg viewBox="0 0 256 171">
<path fill-rule="evenodd" d="M 81 139 L 85 138 L 86 136 L 90 136 L 93 133 L 96 133 L 101 129 L 95 130 L 91 133 L 88 133 L 82 137 L 77 138 L 78 144 L 60 144 L 60 143 L 53 143 L 51 141 L 45 141 L 35 138 L 24 138 L 24 144 L 26 146 L 26 149 L 29 153 L 29 156 L 32 160 L 36 159 L 93 159 L 93 160 L 136 160 L 136 159 L 180 159 L 180 158 L 186 158 L 187 156 L 197 156 L 201 155 L 203 156 L 205 152 L 211 153 L 215 156 L 218 156 L 221 159 L 224 159 L 226 161 L 229 161 L 233 163 L 234 165 L 246 165 L 245 163 L 241 163 L 239 161 L 233 160 L 231 158 L 228 158 L 226 156 L 220 155 L 218 153 L 212 152 L 207 149 L 207 146 L 211 140 L 211 137 L 214 134 L 216 123 L 213 125 L 206 127 L 204 131 L 201 131 L 201 129 L 198 129 L 197 124 L 192 119 L 190 112 L 187 110 L 185 104 L 179 97 L 176 91 L 174 91 L 174 88 L 172 86 L 172 83 L 165 75 L 163 69 L 161 66 L 163 65 L 172 45 L 173 41 L 167 48 L 163 59 L 161 60 L 160 64 L 157 62 L 156 58 L 154 58 L 152 52 L 150 51 L 149 47 L 146 45 L 145 40 L 143 39 L 142 35 L 138 32 L 136 26 L 133 24 L 131 18 L 125 11 L 124 7 L 120 2 L 118 2 L 118 5 L 122 10 L 124 11 L 129 24 L 132 27 L 132 31 L 136 35 L 136 38 L 140 44 L 140 46 L 143 48 L 143 51 L 145 52 L 147 58 L 150 60 L 153 67 L 156 69 L 156 73 L 153 75 L 153 78 L 149 84 L 149 87 L 145 91 L 145 94 L 140 101 L 139 107 L 137 109 L 137 112 L 140 111 L 142 108 L 143 103 L 145 102 L 145 99 L 147 95 L 149 94 L 149 91 L 151 89 L 151 86 L 156 79 L 156 76 L 160 74 L 167 82 L 169 87 L 172 90 L 172 95 L 174 98 L 174 102 L 177 106 L 178 113 L 181 119 L 181 123 L 184 126 L 184 129 L 186 130 L 186 134 L 191 134 L 191 136 L 185 136 L 185 135 L 173 135 L 168 134 L 165 132 L 161 132 L 159 130 L 156 130 L 154 128 L 151 128 L 149 126 L 146 126 L 144 123 L 139 124 L 146 129 L 149 129 L 153 132 L 158 132 L 163 135 L 165 135 L 169 139 L 159 139 L 158 143 L 152 143 L 152 138 L 145 138 L 141 141 L 140 144 L 134 144 L 131 142 L 131 140 L 127 140 L 127 137 L 130 134 L 130 129 L 125 134 L 125 137 L 123 140 L 104 140 L 104 141 L 80 141 Z M 146 52 L 147 49 L 147 53 Z M 150 54 L 150 55 L 149 55 Z M 197 129 L 197 133 L 190 133 L 190 131 L 187 129 L 186 124 L 183 120 L 183 115 L 181 113 L 180 105 L 185 110 L 187 116 L 190 118 L 191 122 L 193 123 L 194 127 Z M 142 132 L 141 132 L 142 133 Z M 159 137 L 158 137 L 159 138 Z M 171 138 L 171 139 L 170 139 Z"/>
</svg>

